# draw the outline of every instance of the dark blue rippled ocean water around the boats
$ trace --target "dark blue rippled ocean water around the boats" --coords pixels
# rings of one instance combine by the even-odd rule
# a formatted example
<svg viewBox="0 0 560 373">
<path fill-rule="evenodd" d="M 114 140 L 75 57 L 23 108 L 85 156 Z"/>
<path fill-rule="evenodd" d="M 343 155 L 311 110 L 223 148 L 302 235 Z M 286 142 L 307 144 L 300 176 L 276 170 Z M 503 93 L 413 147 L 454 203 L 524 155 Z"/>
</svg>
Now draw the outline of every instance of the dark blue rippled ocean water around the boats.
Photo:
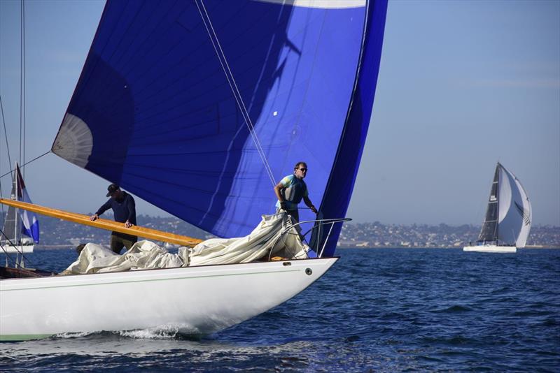
<svg viewBox="0 0 560 373">
<path fill-rule="evenodd" d="M 214 335 L 135 330 L 3 343 L 0 371 L 560 371 L 560 250 L 337 254 L 306 291 Z M 56 271 L 76 258 L 27 256 Z"/>
</svg>

